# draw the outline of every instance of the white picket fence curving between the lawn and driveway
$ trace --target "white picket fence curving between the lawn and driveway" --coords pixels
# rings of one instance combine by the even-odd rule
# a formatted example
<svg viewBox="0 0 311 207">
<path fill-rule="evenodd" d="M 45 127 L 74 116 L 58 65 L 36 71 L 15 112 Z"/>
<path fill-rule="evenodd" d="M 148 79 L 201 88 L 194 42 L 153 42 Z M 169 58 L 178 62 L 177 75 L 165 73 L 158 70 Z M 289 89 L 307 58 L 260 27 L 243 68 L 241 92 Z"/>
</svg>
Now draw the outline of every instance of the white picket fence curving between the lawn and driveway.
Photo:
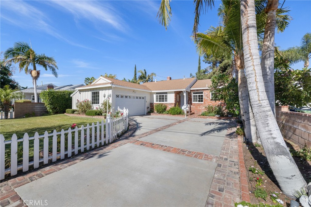
<svg viewBox="0 0 311 207">
<path fill-rule="evenodd" d="M 0 134 L 0 180 L 4 179 L 5 173 L 11 172 L 11 176 L 17 174 L 18 169 L 23 169 L 23 172 L 29 170 L 29 166 L 33 165 L 34 168 L 39 167 L 39 163 L 43 164 L 49 163 L 49 160 L 55 162 L 57 159 L 64 159 L 65 154 L 67 157 L 71 157 L 72 153 L 78 154 L 78 151 L 84 152 L 84 150 L 90 150 L 99 147 L 100 144 L 110 144 L 117 139 L 123 132 L 128 129 L 128 110 L 118 108 L 120 113 L 123 113 L 121 117 L 110 117 L 110 114 L 104 120 L 100 122 L 92 123 L 90 126 L 87 124 L 86 127 L 83 125 L 81 128 L 76 127 L 75 129 L 68 128 L 67 131 L 61 130 L 57 132 L 56 130 L 53 133 L 49 134 L 47 131 L 43 135 L 39 135 L 38 132 L 35 132 L 35 136 L 29 137 L 27 133 L 24 134 L 24 137 L 17 139 L 16 134 L 13 134 L 11 140 L 5 141 L 5 138 Z M 96 128 L 96 137 L 95 137 L 95 128 Z M 74 132 L 74 136 L 72 133 Z M 91 136 L 90 136 L 91 132 Z M 100 133 L 101 132 L 101 133 Z M 80 147 L 79 147 L 79 133 L 80 133 Z M 85 134 L 86 133 L 86 134 Z M 65 149 L 65 135 L 67 134 L 68 147 Z M 60 152 L 57 152 L 57 135 L 60 135 Z M 52 152 L 49 152 L 49 139 L 52 139 Z M 74 139 L 74 144 L 72 143 Z M 29 141 L 34 140 L 33 149 L 29 148 Z M 17 153 L 17 143 L 22 142 L 23 153 L 22 153 L 22 164 L 18 165 L 18 153 Z M 39 152 L 40 143 L 43 142 L 43 156 L 42 151 Z M 85 144 L 86 143 L 86 144 Z M 6 145 L 11 145 L 11 159 L 5 159 L 5 149 Z M 33 150 L 34 157 L 33 161 L 29 161 L 29 152 Z M 52 154 L 51 154 L 52 153 Z M 9 156 L 8 156 L 9 157 Z M 11 167 L 5 169 L 5 163 L 10 162 Z"/>
</svg>

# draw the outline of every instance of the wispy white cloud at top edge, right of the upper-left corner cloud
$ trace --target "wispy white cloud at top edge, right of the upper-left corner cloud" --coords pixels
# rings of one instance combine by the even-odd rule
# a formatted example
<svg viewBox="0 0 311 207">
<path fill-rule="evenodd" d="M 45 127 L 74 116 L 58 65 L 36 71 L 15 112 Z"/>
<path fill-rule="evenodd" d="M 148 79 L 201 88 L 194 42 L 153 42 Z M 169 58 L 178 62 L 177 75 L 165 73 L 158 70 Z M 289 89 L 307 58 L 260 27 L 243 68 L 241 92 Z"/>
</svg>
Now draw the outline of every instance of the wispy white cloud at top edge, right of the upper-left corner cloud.
<svg viewBox="0 0 311 207">
<path fill-rule="evenodd" d="M 100 21 L 113 26 L 117 30 L 124 30 L 128 27 L 118 11 L 105 1 L 52 1 L 52 3 L 63 7 L 66 11 L 75 16 L 75 20 L 87 19 L 95 24 Z"/>
</svg>

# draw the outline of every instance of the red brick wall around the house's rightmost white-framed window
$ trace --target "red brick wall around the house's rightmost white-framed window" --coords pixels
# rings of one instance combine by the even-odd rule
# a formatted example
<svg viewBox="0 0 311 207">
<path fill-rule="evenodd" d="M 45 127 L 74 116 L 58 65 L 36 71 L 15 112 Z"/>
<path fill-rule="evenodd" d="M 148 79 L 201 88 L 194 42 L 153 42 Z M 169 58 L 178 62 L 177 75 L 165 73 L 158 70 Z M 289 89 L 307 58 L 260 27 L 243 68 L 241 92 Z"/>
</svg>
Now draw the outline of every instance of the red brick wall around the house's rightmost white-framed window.
<svg viewBox="0 0 311 207">
<path fill-rule="evenodd" d="M 203 103 L 192 103 L 192 92 L 197 92 L 197 91 L 203 91 Z M 194 112 L 195 114 L 201 114 L 203 111 L 205 111 L 205 106 L 208 105 L 219 105 L 222 104 L 221 101 L 213 101 L 211 100 L 211 93 L 210 90 L 203 89 L 203 90 L 191 90 L 190 93 L 188 93 L 188 101 L 190 102 L 191 108 L 190 110 Z"/>
</svg>

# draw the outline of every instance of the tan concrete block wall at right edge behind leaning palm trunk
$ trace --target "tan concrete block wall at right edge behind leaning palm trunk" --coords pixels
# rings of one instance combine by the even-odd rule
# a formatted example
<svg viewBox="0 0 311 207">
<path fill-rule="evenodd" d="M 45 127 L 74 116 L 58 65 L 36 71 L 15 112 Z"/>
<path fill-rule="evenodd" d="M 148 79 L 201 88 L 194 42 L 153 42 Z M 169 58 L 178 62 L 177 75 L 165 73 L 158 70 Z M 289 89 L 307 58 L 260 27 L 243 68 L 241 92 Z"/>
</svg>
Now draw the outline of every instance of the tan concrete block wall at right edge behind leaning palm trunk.
<svg viewBox="0 0 311 207">
<path fill-rule="evenodd" d="M 290 112 L 288 106 L 276 106 L 276 121 L 285 139 L 300 148 L 311 147 L 311 114 Z"/>
</svg>

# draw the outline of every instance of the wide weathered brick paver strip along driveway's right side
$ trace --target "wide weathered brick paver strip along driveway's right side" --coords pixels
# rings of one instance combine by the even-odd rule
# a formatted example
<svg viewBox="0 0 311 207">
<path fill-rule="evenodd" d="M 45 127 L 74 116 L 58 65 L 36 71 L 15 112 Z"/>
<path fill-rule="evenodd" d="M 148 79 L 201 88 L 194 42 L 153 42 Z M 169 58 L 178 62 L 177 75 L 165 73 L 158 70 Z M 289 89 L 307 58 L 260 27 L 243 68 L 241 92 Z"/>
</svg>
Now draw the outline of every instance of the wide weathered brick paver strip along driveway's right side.
<svg viewBox="0 0 311 207">
<path fill-rule="evenodd" d="M 235 130 L 236 127 L 227 130 L 206 207 L 232 207 L 234 202 L 241 201 L 239 148 Z"/>
</svg>

